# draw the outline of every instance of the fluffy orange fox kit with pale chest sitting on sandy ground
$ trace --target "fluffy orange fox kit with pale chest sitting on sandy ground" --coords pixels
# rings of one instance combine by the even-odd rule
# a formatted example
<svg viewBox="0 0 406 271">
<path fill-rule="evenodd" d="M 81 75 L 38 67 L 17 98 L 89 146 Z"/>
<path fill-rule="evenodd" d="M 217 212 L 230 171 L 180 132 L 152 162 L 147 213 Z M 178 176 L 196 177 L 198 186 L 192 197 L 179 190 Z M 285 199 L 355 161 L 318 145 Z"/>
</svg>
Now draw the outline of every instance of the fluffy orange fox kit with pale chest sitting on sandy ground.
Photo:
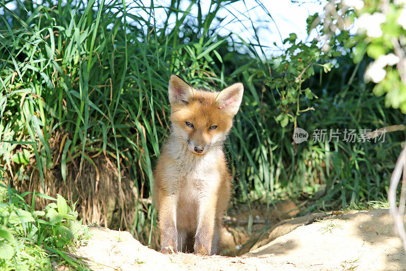
<svg viewBox="0 0 406 271">
<path fill-rule="evenodd" d="M 186 239 L 193 244 L 194 237 L 194 253 L 216 254 L 231 187 L 222 147 L 244 87 L 197 90 L 172 75 L 168 92 L 171 135 L 154 171 L 161 252 L 185 251 Z"/>
</svg>

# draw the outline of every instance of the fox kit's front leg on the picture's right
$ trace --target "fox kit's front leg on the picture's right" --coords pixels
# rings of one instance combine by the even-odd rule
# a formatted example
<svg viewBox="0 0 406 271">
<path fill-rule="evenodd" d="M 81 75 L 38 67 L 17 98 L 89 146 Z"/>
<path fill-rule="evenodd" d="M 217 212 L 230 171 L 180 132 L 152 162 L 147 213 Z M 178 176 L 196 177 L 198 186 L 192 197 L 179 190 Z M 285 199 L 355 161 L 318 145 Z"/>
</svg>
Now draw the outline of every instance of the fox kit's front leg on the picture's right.
<svg viewBox="0 0 406 271">
<path fill-rule="evenodd" d="M 193 246 L 195 254 L 212 255 L 216 202 L 216 196 L 214 195 L 205 196 L 199 200 L 197 229 Z"/>
</svg>

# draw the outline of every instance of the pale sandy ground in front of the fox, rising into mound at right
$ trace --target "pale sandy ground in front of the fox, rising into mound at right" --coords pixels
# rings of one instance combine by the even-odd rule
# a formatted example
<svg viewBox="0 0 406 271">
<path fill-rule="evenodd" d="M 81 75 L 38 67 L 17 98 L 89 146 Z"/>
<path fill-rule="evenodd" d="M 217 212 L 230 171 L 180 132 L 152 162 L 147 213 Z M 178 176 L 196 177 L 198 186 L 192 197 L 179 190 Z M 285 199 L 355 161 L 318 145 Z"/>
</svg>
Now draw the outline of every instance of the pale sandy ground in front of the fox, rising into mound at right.
<svg viewBox="0 0 406 271">
<path fill-rule="evenodd" d="M 163 255 L 129 232 L 91 227 L 76 254 L 93 270 L 396 270 L 406 255 L 387 209 L 315 214 L 280 222 L 240 257 Z"/>
</svg>

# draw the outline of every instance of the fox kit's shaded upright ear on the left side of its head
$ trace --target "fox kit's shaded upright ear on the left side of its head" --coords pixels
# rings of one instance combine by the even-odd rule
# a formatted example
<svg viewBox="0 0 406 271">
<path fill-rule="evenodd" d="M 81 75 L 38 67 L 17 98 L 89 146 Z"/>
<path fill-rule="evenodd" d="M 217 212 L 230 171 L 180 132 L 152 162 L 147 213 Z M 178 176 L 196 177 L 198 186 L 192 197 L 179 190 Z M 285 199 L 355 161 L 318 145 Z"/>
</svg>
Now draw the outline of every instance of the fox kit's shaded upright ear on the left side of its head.
<svg viewBox="0 0 406 271">
<path fill-rule="evenodd" d="M 188 104 L 193 97 L 192 87 L 177 75 L 171 75 L 168 85 L 169 102 L 173 105 Z"/>
</svg>

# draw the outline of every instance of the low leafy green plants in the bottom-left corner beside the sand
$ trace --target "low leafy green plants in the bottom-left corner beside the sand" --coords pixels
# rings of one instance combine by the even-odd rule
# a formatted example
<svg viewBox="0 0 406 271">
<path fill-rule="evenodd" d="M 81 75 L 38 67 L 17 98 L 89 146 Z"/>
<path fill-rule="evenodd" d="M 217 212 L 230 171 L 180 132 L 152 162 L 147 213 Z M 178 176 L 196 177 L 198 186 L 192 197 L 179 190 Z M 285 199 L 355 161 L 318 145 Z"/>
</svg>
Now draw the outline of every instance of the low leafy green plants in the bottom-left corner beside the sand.
<svg viewBox="0 0 406 271">
<path fill-rule="evenodd" d="M 84 268 L 65 253 L 88 236 L 88 228 L 77 220 L 75 204 L 67 205 L 60 195 L 55 199 L 36 192 L 20 194 L 3 183 L 0 188 L 7 195 L 0 203 L 0 269 L 47 270 L 52 261 Z M 31 205 L 24 200 L 28 194 L 32 194 Z M 35 210 L 36 196 L 54 202 Z"/>
</svg>

